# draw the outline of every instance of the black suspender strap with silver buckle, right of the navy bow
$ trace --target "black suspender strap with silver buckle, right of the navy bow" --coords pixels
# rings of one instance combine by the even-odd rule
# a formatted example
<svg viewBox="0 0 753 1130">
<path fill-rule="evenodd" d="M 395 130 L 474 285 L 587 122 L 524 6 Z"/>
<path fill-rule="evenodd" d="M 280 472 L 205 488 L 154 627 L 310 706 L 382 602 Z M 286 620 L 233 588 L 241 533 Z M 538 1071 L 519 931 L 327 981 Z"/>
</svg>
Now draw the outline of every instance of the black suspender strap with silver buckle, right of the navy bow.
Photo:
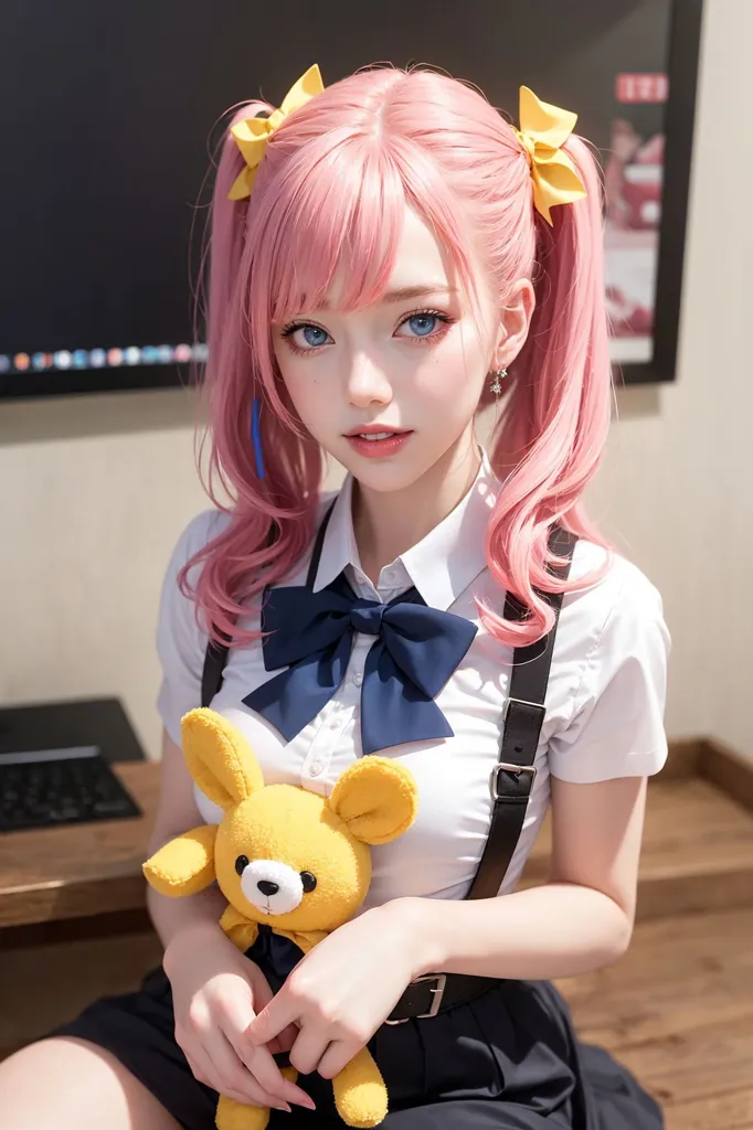
<svg viewBox="0 0 753 1130">
<path fill-rule="evenodd" d="M 575 541 L 574 534 L 560 527 L 553 528 L 549 549 L 566 560 L 563 566 L 553 568 L 552 574 L 563 581 L 570 574 Z M 527 647 L 517 647 L 513 654 L 500 757 L 491 777 L 494 801 L 492 823 L 467 898 L 493 898 L 499 893 L 522 831 L 528 798 L 536 779 L 534 762 L 546 714 L 544 702 L 563 593 L 542 592 L 540 596 L 554 611 L 554 627 L 543 640 Z M 523 615 L 520 601 L 509 594 L 504 606 L 505 619 L 520 620 Z"/>
</svg>

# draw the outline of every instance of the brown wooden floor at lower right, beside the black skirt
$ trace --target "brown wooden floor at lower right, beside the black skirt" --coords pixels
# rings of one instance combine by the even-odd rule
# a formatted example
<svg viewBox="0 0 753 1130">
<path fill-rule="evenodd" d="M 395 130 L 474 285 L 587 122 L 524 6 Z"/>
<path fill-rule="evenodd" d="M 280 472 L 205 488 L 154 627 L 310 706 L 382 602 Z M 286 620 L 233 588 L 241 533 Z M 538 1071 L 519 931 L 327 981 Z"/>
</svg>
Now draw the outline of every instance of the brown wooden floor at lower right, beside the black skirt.
<svg viewBox="0 0 753 1130">
<path fill-rule="evenodd" d="M 559 988 L 667 1130 L 753 1130 L 752 907 L 641 922 L 617 965 Z"/>
</svg>

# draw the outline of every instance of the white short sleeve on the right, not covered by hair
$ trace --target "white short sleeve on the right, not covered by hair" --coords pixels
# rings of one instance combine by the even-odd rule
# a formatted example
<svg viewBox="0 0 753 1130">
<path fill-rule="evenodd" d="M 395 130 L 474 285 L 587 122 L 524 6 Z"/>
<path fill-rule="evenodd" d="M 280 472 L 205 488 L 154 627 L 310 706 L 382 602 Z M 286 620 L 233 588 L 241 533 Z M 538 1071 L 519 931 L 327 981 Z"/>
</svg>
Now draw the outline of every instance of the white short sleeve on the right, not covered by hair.
<svg viewBox="0 0 753 1130">
<path fill-rule="evenodd" d="M 548 746 L 553 776 L 573 784 L 650 776 L 667 758 L 670 640 L 661 598 L 634 566 L 621 576 L 586 661 L 570 722 Z"/>
</svg>

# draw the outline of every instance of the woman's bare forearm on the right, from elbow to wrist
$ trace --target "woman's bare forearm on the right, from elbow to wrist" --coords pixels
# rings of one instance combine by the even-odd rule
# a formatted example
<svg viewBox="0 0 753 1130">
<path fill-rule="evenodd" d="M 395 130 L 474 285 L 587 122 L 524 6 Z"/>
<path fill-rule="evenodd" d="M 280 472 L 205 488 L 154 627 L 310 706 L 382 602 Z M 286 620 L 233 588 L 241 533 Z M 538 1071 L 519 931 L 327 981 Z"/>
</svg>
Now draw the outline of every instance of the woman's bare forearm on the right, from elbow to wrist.
<svg viewBox="0 0 753 1130">
<path fill-rule="evenodd" d="M 547 981 L 609 965 L 624 954 L 632 922 L 608 895 L 548 884 L 497 898 L 398 899 L 415 976 L 467 973 Z"/>
</svg>

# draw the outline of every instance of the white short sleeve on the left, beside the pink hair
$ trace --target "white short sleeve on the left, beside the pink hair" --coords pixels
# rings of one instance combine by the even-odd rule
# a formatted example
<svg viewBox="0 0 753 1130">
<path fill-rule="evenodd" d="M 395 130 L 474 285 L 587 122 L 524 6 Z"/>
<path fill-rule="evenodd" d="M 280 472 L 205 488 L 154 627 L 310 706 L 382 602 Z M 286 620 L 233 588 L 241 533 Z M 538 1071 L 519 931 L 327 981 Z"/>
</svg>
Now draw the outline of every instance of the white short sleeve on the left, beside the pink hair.
<svg viewBox="0 0 753 1130">
<path fill-rule="evenodd" d="M 157 710 L 165 730 L 179 746 L 183 714 L 201 705 L 201 672 L 208 636 L 197 620 L 193 600 L 181 592 L 178 576 L 185 563 L 222 531 L 224 521 L 226 518 L 220 511 L 209 510 L 189 523 L 173 550 L 162 585 L 157 617 L 162 685 Z M 192 571 L 189 583 L 194 584 L 196 579 Z"/>
</svg>

